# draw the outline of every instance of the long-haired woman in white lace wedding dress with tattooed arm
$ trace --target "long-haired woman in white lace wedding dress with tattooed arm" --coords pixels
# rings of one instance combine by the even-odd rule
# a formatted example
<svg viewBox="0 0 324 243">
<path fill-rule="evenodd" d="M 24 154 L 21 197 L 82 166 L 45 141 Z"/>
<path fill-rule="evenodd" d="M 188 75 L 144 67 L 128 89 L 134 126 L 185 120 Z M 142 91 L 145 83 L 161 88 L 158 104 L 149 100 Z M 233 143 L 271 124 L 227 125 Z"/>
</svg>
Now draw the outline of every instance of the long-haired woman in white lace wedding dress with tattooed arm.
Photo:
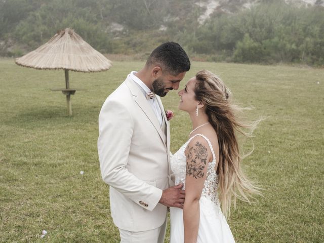
<svg viewBox="0 0 324 243">
<path fill-rule="evenodd" d="M 193 130 L 171 160 L 175 184 L 183 183 L 186 193 L 183 210 L 170 209 L 171 243 L 235 242 L 225 218 L 232 201 L 250 202 L 249 194 L 260 194 L 240 169 L 235 132 L 249 137 L 258 121 L 242 123 L 237 113 L 244 108 L 231 104 L 230 90 L 207 70 L 192 77 L 179 96 Z"/>
</svg>

